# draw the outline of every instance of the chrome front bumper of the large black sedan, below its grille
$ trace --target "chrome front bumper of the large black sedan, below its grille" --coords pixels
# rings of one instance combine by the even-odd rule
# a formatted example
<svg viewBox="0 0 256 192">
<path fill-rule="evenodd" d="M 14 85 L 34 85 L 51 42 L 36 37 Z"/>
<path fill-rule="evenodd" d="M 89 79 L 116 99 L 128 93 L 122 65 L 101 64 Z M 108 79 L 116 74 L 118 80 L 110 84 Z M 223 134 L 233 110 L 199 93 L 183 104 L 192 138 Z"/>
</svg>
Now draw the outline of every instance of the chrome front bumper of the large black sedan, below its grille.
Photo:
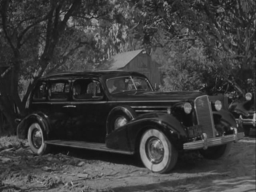
<svg viewBox="0 0 256 192">
<path fill-rule="evenodd" d="M 216 138 L 207 138 L 207 134 L 202 135 L 202 140 L 187 142 L 183 144 L 184 150 L 195 150 L 195 149 L 207 149 L 208 147 L 218 146 L 222 144 L 227 144 L 230 142 L 237 142 L 244 137 L 244 133 L 237 132 L 237 128 L 233 128 L 234 134 L 225 135 Z"/>
</svg>

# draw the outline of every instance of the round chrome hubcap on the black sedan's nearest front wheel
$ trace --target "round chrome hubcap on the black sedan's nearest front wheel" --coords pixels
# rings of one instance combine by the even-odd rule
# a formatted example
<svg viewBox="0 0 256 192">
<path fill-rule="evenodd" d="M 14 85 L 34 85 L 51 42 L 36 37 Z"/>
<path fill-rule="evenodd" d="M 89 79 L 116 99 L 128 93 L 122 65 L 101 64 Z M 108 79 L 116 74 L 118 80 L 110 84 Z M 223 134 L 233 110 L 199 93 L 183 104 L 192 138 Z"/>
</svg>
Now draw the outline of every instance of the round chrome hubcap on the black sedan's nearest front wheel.
<svg viewBox="0 0 256 192">
<path fill-rule="evenodd" d="M 164 146 L 162 142 L 156 138 L 151 137 L 146 142 L 146 155 L 153 164 L 160 163 L 164 158 Z"/>
</svg>

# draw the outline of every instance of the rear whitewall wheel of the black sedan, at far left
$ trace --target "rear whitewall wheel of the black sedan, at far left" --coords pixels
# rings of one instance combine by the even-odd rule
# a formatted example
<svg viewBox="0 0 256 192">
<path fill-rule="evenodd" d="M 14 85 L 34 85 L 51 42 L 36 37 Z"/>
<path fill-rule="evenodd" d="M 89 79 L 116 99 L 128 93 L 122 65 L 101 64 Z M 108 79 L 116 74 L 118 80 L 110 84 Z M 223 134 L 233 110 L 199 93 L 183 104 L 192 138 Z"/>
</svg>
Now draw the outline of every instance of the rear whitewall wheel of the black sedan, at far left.
<svg viewBox="0 0 256 192">
<path fill-rule="evenodd" d="M 43 130 L 38 123 L 33 123 L 28 128 L 28 144 L 33 153 L 45 154 L 49 146 L 44 143 Z"/>
</svg>

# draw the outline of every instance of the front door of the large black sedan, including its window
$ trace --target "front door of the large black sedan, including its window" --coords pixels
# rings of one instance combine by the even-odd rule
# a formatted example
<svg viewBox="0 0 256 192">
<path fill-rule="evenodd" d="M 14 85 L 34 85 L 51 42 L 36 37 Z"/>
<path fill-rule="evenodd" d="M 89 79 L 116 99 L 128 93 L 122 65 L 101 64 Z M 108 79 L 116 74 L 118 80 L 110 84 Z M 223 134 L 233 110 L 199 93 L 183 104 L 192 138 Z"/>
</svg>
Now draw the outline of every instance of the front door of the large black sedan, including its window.
<svg viewBox="0 0 256 192">
<path fill-rule="evenodd" d="M 110 109 L 100 82 L 92 78 L 74 80 L 72 98 L 76 106 L 76 112 L 72 114 L 72 130 L 76 140 L 104 142 Z"/>
</svg>

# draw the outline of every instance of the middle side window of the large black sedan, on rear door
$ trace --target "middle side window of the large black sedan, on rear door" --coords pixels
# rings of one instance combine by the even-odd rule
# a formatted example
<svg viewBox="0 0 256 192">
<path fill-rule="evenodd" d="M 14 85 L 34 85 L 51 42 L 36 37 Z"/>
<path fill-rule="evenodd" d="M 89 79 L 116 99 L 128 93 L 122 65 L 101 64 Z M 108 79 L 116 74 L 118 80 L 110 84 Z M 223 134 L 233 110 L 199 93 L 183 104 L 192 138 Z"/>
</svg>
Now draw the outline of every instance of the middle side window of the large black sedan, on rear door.
<svg viewBox="0 0 256 192">
<path fill-rule="evenodd" d="M 68 80 L 52 81 L 50 83 L 49 98 L 51 100 L 67 100 L 69 90 Z"/>
</svg>

